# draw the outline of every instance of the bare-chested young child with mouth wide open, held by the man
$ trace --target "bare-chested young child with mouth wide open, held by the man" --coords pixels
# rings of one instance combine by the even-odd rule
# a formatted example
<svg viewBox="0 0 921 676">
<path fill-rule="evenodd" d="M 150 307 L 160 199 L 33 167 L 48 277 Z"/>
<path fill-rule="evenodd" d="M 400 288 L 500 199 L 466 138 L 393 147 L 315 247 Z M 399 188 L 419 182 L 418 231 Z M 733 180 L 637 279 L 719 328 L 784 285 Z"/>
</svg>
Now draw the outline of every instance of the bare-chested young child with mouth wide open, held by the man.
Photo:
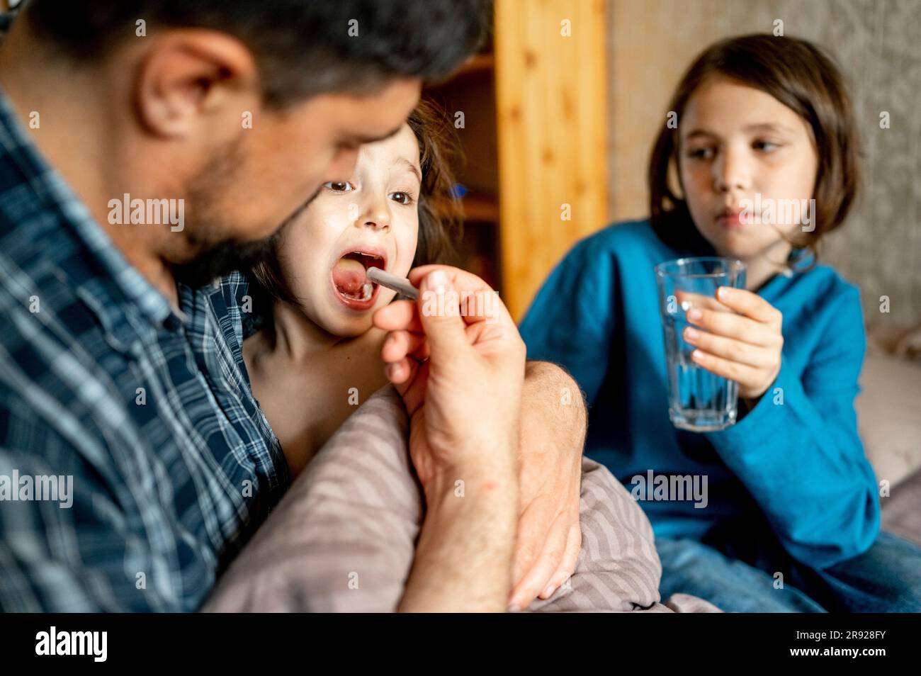
<svg viewBox="0 0 921 676">
<path fill-rule="evenodd" d="M 394 292 L 366 284 L 377 266 L 405 277 L 447 262 L 461 228 L 451 197 L 449 128 L 425 101 L 398 134 L 362 146 L 352 180 L 326 183 L 252 276 L 262 331 L 243 344 L 251 386 L 296 476 L 387 384 L 386 332 L 371 324 Z"/>
</svg>

